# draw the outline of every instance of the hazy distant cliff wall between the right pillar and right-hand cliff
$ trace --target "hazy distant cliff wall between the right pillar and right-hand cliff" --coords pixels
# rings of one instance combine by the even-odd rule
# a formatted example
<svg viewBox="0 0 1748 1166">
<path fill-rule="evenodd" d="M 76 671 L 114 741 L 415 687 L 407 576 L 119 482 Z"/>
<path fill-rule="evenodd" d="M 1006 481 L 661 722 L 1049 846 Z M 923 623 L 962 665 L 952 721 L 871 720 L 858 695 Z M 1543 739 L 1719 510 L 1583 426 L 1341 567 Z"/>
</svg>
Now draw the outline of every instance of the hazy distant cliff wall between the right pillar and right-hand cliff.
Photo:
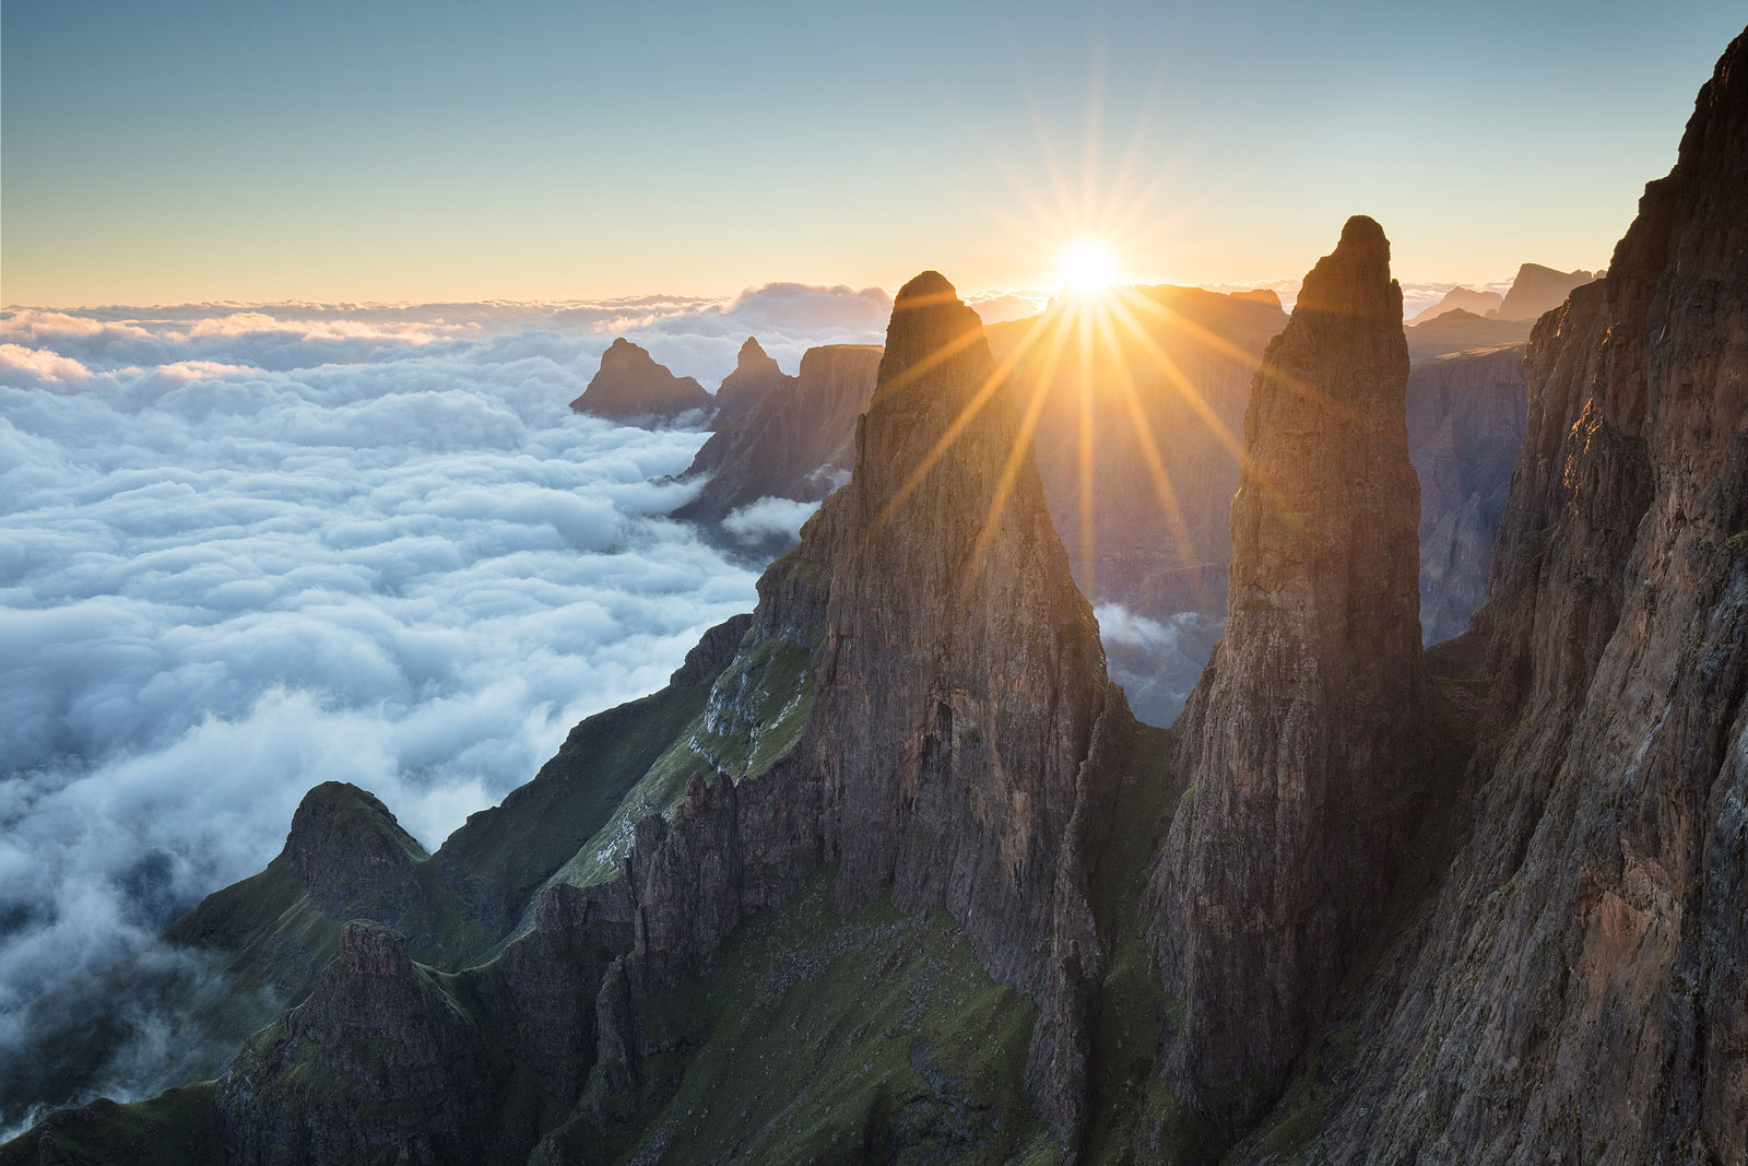
<svg viewBox="0 0 1748 1166">
<path fill-rule="evenodd" d="M 1421 484 L 1421 638 L 1468 628 L 1488 598 L 1526 414 L 1524 350 L 1479 350 L 1409 369 L 1409 460 Z"/>
</svg>

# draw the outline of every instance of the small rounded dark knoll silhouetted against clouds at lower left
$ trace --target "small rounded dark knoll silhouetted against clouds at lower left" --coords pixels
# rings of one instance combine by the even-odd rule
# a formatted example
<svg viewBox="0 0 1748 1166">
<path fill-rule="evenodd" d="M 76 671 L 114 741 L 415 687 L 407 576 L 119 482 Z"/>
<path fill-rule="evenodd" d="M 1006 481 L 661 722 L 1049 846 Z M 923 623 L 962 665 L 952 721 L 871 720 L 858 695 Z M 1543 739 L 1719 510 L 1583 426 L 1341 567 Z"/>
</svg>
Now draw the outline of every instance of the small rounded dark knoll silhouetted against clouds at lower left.
<svg viewBox="0 0 1748 1166">
<path fill-rule="evenodd" d="M 414 864 L 427 857 L 372 794 L 323 781 L 292 815 L 280 862 L 332 916 L 399 918 L 423 899 Z"/>
</svg>

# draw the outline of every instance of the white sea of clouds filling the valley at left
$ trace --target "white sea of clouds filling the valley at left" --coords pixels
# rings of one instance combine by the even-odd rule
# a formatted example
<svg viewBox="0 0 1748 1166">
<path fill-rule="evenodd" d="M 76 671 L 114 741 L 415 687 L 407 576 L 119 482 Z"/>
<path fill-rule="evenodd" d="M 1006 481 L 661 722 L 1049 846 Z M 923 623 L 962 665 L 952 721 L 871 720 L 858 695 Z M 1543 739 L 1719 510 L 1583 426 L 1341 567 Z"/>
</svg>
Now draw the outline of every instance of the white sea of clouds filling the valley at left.
<svg viewBox="0 0 1748 1166">
<path fill-rule="evenodd" d="M 259 871 L 311 785 L 435 848 L 752 608 L 760 565 L 666 517 L 706 434 L 568 411 L 614 336 L 715 385 L 748 334 L 794 371 L 890 308 L 0 313 L 0 1063 L 52 1056 L 33 1002 Z M 110 1094 L 168 1084 L 147 1012 Z M 0 1129 L 63 1100 L 0 1096 Z"/>
</svg>

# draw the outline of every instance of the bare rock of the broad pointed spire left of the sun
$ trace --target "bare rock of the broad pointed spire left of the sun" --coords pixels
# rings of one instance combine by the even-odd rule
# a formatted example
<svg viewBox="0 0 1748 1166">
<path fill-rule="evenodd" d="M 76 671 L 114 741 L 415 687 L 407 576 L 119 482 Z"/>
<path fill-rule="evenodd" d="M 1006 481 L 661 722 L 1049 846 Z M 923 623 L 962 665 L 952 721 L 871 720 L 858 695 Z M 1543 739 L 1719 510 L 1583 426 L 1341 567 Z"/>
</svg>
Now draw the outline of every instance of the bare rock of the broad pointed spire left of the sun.
<svg viewBox="0 0 1748 1166">
<path fill-rule="evenodd" d="M 837 902 L 946 906 L 996 975 L 1030 979 L 1105 657 L 989 378 L 953 285 L 905 283 L 855 475 L 802 535 L 830 570 L 809 732 Z"/>
</svg>

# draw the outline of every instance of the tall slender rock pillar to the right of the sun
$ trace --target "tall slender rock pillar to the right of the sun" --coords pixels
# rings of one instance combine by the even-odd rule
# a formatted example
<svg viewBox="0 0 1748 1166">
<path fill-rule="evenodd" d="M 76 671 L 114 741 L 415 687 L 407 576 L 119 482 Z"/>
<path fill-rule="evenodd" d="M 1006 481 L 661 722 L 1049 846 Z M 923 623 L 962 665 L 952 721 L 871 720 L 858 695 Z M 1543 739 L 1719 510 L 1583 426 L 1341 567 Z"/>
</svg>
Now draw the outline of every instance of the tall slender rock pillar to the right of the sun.
<svg viewBox="0 0 1748 1166">
<path fill-rule="evenodd" d="M 1349 219 L 1252 386 L 1227 631 L 1175 729 L 1189 788 L 1154 876 L 1161 1072 L 1227 1135 L 1278 1096 L 1414 822 L 1407 374 L 1390 243 Z"/>
</svg>

